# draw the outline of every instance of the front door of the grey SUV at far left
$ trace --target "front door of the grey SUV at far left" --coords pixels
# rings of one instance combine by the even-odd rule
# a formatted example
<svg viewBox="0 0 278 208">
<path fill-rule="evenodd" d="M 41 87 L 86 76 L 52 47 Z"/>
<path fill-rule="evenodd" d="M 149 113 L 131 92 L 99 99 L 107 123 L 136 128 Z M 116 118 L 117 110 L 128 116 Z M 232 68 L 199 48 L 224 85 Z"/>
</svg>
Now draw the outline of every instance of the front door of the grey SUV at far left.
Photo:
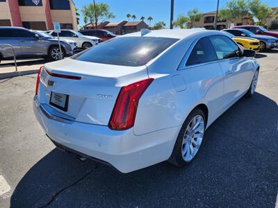
<svg viewBox="0 0 278 208">
<path fill-rule="evenodd" d="M 22 48 L 22 55 L 36 56 L 45 54 L 46 42 L 42 37 L 38 36 L 38 34 L 37 37 L 35 37 L 35 34 L 36 33 L 24 29 L 17 29 L 17 35 Z"/>
</svg>

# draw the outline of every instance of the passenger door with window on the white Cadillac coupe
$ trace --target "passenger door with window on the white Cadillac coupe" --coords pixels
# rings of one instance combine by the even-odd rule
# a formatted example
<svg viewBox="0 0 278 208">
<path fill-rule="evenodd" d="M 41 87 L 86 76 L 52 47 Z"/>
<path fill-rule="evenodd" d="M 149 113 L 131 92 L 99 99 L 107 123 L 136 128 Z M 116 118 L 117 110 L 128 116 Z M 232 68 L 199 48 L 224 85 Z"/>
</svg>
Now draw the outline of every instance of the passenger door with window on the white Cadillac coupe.
<svg viewBox="0 0 278 208">
<path fill-rule="evenodd" d="M 224 106 L 229 107 L 238 100 L 250 86 L 252 63 L 249 58 L 240 57 L 238 45 L 224 35 L 209 37 L 224 73 Z"/>
</svg>

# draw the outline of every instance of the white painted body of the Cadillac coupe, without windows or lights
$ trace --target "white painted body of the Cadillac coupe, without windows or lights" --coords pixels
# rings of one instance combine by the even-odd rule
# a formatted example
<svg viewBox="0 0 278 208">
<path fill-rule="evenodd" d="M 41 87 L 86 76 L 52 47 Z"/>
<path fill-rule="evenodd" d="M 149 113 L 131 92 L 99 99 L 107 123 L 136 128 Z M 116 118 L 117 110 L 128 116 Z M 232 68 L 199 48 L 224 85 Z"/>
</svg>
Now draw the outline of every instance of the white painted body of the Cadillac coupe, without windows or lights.
<svg viewBox="0 0 278 208">
<path fill-rule="evenodd" d="M 57 144 L 108 162 L 129 173 L 167 160 L 181 125 L 199 104 L 208 108 L 208 128 L 247 92 L 259 64 L 254 58 L 229 58 L 186 67 L 196 42 L 220 31 L 160 30 L 146 37 L 179 41 L 142 67 L 83 62 L 66 58 L 44 65 L 51 73 L 81 76 L 70 80 L 42 70 L 34 112 Z M 131 33 L 116 38 L 140 36 Z M 231 73 L 230 73 L 231 72 Z M 140 97 L 133 128 L 111 130 L 108 122 L 122 86 L 154 78 Z M 49 87 L 48 81 L 55 85 Z M 67 112 L 49 105 L 51 92 L 69 94 Z"/>
</svg>

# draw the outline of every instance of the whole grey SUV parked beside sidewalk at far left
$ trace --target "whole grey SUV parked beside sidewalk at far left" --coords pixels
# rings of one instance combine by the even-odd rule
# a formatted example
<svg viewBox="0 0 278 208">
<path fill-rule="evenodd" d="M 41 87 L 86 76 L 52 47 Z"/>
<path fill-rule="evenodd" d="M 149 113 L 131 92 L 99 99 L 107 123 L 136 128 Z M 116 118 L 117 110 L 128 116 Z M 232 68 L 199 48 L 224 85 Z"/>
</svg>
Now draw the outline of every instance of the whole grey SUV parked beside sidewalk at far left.
<svg viewBox="0 0 278 208">
<path fill-rule="evenodd" d="M 60 60 L 58 40 L 35 33 L 26 28 L 0 27 L 0 60 L 13 58 L 13 50 L 17 58 L 50 58 Z M 72 46 L 61 40 L 61 52 L 63 56 L 73 55 Z"/>
</svg>

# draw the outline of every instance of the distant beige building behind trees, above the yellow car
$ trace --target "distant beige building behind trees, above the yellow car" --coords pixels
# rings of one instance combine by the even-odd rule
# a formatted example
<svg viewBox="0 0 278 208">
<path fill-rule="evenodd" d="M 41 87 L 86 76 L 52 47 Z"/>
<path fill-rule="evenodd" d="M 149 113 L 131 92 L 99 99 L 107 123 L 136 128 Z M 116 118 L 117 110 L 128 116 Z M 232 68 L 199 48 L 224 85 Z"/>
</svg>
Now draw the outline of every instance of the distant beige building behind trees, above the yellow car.
<svg viewBox="0 0 278 208">
<path fill-rule="evenodd" d="M 213 12 L 206 12 L 202 13 L 202 17 L 199 21 L 193 22 L 193 27 L 194 28 L 206 28 L 208 30 L 214 29 L 215 25 L 215 16 L 216 16 L 216 11 Z M 244 18 L 238 18 L 234 23 L 227 19 L 218 19 L 217 21 L 217 29 L 222 30 L 224 28 L 229 28 L 230 26 L 240 26 L 240 25 L 245 25 L 245 24 L 254 24 L 254 20 L 252 19 L 251 15 L 248 15 L 247 17 Z"/>
</svg>

